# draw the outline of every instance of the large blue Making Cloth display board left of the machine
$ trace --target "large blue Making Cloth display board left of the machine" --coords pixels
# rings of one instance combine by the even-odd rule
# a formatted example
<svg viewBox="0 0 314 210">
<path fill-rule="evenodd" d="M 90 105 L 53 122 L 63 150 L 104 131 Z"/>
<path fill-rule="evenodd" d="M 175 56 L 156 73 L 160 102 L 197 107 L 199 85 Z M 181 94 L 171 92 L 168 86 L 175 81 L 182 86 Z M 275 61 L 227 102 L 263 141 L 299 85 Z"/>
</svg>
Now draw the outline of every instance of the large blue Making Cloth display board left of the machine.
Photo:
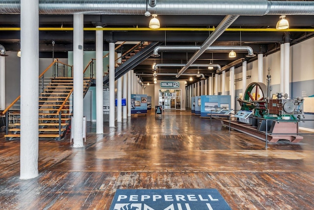
<svg viewBox="0 0 314 210">
<path fill-rule="evenodd" d="M 218 107 L 224 108 L 221 112 L 226 112 L 231 106 L 231 96 L 201 96 L 201 117 L 208 117 L 208 114 Z"/>
</svg>

